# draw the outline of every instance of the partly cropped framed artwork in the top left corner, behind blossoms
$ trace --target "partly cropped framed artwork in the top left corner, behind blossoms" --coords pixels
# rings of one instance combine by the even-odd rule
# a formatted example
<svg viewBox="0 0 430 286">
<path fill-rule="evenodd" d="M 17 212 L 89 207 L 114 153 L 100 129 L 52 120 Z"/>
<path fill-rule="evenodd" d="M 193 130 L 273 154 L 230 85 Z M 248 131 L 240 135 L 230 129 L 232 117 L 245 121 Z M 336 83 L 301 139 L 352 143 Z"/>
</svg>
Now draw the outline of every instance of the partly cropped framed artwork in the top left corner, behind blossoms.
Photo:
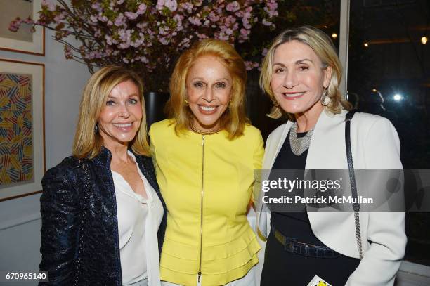
<svg viewBox="0 0 430 286">
<path fill-rule="evenodd" d="M 18 32 L 9 31 L 9 24 L 20 17 L 39 19 L 41 0 L 0 0 L 0 49 L 45 56 L 45 28 L 22 24 Z"/>
</svg>

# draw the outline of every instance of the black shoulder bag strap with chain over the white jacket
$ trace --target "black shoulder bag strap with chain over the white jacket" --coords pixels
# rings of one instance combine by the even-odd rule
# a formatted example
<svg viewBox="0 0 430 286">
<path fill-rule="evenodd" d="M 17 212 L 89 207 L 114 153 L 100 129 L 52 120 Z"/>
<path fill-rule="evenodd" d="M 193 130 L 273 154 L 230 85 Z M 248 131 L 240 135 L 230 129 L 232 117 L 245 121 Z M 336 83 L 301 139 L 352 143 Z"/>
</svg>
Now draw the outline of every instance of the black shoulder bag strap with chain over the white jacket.
<svg viewBox="0 0 430 286">
<path fill-rule="evenodd" d="M 354 174 L 354 164 L 352 160 L 352 152 L 351 152 L 351 119 L 356 113 L 355 110 L 351 110 L 346 114 L 345 117 L 345 143 L 346 143 L 346 159 L 348 160 L 348 171 L 349 171 L 349 180 L 351 181 L 351 193 L 354 198 L 353 210 L 354 210 L 354 219 L 356 222 L 356 238 L 357 238 L 357 246 L 358 246 L 358 254 L 360 255 L 360 260 L 363 259 L 363 247 L 361 245 L 361 233 L 360 233 L 360 204 L 357 202 L 357 186 L 356 186 L 356 175 Z"/>
</svg>

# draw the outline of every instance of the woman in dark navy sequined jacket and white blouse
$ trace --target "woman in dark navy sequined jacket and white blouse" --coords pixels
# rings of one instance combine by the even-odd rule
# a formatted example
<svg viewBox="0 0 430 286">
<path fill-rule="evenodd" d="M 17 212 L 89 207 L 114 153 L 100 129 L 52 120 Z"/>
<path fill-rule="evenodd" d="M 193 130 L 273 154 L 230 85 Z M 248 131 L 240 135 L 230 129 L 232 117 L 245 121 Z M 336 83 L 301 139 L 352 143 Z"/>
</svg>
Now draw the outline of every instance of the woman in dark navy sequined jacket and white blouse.
<svg viewBox="0 0 430 286">
<path fill-rule="evenodd" d="M 166 225 L 149 155 L 141 79 L 104 67 L 86 84 L 73 156 L 41 195 L 41 285 L 159 285 Z"/>
</svg>

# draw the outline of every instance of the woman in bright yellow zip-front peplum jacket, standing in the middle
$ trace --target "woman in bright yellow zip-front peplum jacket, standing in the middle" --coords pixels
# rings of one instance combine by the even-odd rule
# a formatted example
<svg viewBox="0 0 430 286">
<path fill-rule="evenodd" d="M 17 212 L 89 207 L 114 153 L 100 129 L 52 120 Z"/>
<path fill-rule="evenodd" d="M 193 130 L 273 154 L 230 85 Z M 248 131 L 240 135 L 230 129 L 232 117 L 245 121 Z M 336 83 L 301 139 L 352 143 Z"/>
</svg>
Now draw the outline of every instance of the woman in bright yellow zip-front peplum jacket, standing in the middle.
<svg viewBox="0 0 430 286">
<path fill-rule="evenodd" d="M 169 119 L 150 129 L 168 209 L 163 285 L 255 285 L 260 246 L 246 215 L 263 140 L 245 115 L 246 77 L 233 46 L 215 39 L 176 63 Z"/>
</svg>

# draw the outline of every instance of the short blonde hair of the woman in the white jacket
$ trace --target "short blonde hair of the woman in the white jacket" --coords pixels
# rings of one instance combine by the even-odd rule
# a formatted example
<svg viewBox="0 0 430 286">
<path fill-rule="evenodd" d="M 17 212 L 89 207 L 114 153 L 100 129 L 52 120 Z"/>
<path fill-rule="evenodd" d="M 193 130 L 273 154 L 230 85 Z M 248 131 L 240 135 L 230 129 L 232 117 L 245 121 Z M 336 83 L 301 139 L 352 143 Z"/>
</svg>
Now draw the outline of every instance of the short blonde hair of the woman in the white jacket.
<svg viewBox="0 0 430 286">
<path fill-rule="evenodd" d="M 268 49 L 266 57 L 263 60 L 260 74 L 260 86 L 261 89 L 266 91 L 269 98 L 271 98 L 274 103 L 268 117 L 278 119 L 282 117 L 282 115 L 287 115 L 289 119 L 294 120 L 294 115 L 288 114 L 275 104 L 276 98 L 271 88 L 273 55 L 275 54 L 275 50 L 278 46 L 289 41 L 299 41 L 312 48 L 321 60 L 321 63 L 323 64 L 321 68 L 323 70 L 327 69 L 329 66 L 332 67 L 330 83 L 327 86 L 327 96 L 330 98 L 330 103 L 328 103 L 325 109 L 333 114 L 341 112 L 342 108 L 345 110 L 351 110 L 351 104 L 344 99 L 344 96 L 342 96 L 339 90 L 339 84 L 342 77 L 342 67 L 332 40 L 327 36 L 327 34 L 325 34 L 325 32 L 318 30 L 315 27 L 303 26 L 288 29 L 280 33 L 278 37 L 273 40 L 271 47 Z"/>
</svg>

